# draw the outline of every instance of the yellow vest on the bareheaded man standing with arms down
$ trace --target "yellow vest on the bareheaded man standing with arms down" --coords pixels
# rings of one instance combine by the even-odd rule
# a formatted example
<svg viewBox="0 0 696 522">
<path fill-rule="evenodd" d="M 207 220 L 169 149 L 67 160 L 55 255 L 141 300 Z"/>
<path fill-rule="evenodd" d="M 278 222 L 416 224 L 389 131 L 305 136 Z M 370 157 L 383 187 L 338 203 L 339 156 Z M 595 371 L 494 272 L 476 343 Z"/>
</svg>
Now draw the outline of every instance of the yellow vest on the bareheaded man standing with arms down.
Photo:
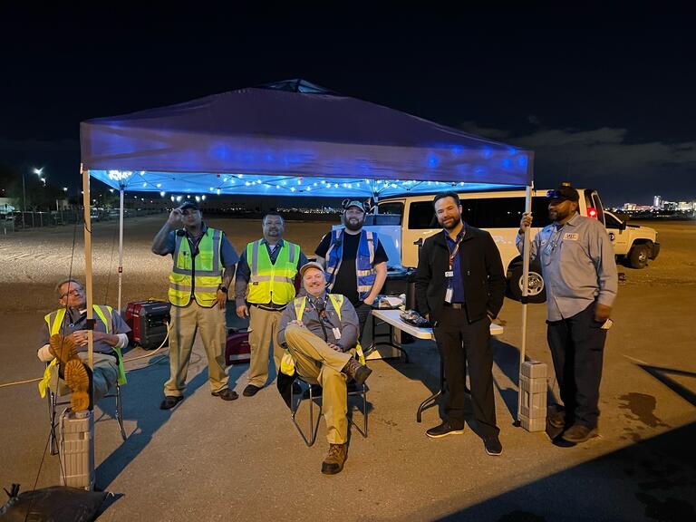
<svg viewBox="0 0 696 522">
<path fill-rule="evenodd" d="M 247 245 L 247 263 L 251 270 L 247 301 L 256 304 L 288 304 L 295 297 L 295 275 L 300 247 L 283 242 L 275 265 L 261 240 Z"/>
</svg>

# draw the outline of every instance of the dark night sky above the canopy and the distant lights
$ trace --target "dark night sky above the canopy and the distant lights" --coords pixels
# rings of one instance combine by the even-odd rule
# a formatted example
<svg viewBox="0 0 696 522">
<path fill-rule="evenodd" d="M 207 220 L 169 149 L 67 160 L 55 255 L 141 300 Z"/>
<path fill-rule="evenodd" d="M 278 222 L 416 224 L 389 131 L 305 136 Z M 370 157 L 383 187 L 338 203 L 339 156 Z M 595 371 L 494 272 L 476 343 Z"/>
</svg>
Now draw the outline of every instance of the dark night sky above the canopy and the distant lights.
<svg viewBox="0 0 696 522">
<path fill-rule="evenodd" d="M 696 199 L 691 18 L 0 7 L 0 162 L 77 188 L 79 123 L 304 78 L 535 150 L 540 188 Z M 173 5 L 173 4 L 172 4 Z M 71 8 L 72 9 L 72 8 Z"/>
</svg>

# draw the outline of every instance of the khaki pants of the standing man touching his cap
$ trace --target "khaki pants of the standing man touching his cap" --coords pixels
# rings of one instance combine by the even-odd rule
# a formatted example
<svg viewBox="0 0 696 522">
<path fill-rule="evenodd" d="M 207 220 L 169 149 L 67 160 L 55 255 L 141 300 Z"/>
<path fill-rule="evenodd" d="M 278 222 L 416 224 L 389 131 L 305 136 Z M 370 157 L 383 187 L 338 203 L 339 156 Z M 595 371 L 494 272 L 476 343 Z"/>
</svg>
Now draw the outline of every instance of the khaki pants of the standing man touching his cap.
<svg viewBox="0 0 696 522">
<path fill-rule="evenodd" d="M 208 357 L 208 381 L 211 391 L 227 388 L 229 377 L 225 372 L 225 343 L 227 328 L 225 310 L 216 304 L 206 308 L 191 300 L 187 306 L 171 307 L 169 332 L 169 381 L 164 394 L 179 397 L 186 389 L 186 376 L 196 333 L 200 333 Z"/>
</svg>

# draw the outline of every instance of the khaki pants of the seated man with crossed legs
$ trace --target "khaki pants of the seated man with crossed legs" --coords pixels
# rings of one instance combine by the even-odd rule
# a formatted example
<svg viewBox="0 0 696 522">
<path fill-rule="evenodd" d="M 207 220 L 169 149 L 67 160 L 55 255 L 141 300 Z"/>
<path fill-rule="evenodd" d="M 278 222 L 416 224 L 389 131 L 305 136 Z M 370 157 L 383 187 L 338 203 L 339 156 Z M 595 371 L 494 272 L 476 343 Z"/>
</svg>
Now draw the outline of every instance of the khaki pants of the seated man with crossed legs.
<svg viewBox="0 0 696 522">
<path fill-rule="evenodd" d="M 326 439 L 330 444 L 348 441 L 348 393 L 341 373 L 351 353 L 335 352 L 306 328 L 285 328 L 285 343 L 295 359 L 295 370 L 306 381 L 321 384 Z"/>
</svg>

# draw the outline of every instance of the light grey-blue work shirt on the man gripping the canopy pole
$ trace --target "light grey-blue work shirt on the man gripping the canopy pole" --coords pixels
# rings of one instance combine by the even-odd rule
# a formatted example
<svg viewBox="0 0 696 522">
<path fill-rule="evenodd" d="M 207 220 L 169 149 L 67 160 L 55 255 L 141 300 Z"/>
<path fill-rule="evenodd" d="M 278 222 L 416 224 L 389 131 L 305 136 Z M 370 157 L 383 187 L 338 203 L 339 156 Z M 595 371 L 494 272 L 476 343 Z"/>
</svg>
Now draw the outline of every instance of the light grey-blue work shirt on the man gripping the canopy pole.
<svg viewBox="0 0 696 522">
<path fill-rule="evenodd" d="M 520 253 L 523 239 L 517 234 Z M 549 321 L 579 314 L 595 300 L 614 304 L 619 285 L 614 247 L 597 219 L 576 214 L 563 227 L 552 223 L 536 234 L 530 246 L 530 259 L 541 264 Z"/>
</svg>

